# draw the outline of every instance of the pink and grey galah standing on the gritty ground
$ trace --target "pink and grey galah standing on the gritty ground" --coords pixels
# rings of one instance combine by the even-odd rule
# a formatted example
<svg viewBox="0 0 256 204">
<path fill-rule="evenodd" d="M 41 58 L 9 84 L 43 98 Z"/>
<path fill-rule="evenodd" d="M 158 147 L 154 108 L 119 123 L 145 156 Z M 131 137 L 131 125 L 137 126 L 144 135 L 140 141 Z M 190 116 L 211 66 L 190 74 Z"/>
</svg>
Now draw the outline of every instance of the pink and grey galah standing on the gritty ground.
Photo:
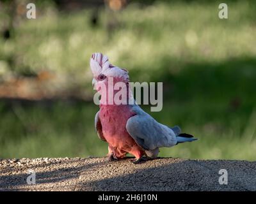
<svg viewBox="0 0 256 204">
<path fill-rule="evenodd" d="M 90 59 L 90 68 L 93 73 L 93 87 L 101 94 L 100 110 L 95 115 L 95 129 L 99 138 L 108 142 L 109 161 L 124 158 L 127 153 L 135 156 L 131 161 L 141 163 L 147 159 L 154 159 L 159 154 L 160 147 L 172 147 L 178 143 L 196 140 L 192 135 L 181 133 L 179 126 L 170 128 L 144 112 L 135 103 L 116 103 L 111 95 L 109 103 L 109 83 L 115 85 L 122 82 L 127 86 L 127 98 L 134 101 L 129 87 L 128 71 L 110 64 L 108 57 L 95 53 Z M 107 89 L 102 89 L 105 85 Z M 105 92 L 104 92 L 105 91 Z M 104 96 L 103 96 L 104 95 Z M 102 100 L 105 100 L 104 103 Z"/>
</svg>

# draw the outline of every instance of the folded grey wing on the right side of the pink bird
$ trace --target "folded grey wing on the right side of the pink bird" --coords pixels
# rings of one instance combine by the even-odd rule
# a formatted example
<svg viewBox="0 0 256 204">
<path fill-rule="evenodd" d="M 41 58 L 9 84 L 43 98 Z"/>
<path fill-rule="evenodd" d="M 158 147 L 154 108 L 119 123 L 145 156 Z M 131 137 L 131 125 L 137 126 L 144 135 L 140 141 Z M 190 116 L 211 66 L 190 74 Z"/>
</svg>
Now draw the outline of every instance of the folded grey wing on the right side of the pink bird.
<svg viewBox="0 0 256 204">
<path fill-rule="evenodd" d="M 157 122 L 138 105 L 133 106 L 132 111 L 136 115 L 127 120 L 126 129 L 140 147 L 153 150 L 177 144 L 176 134 L 171 128 Z"/>
</svg>

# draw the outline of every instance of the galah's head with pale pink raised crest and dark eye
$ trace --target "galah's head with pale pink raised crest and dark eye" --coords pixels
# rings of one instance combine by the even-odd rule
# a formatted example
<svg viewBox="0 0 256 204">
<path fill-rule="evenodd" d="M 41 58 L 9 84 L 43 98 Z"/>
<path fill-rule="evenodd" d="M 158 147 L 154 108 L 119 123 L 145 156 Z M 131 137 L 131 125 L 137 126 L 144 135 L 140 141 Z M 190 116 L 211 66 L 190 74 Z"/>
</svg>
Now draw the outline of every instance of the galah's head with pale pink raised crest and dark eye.
<svg viewBox="0 0 256 204">
<path fill-rule="evenodd" d="M 94 53 L 90 59 L 90 68 L 93 73 L 92 84 L 95 90 L 100 92 L 102 85 L 108 87 L 109 82 L 113 82 L 113 85 L 116 82 L 124 82 L 128 84 L 129 75 L 128 71 L 117 66 L 113 66 L 108 61 L 108 56 L 101 53 Z"/>
</svg>

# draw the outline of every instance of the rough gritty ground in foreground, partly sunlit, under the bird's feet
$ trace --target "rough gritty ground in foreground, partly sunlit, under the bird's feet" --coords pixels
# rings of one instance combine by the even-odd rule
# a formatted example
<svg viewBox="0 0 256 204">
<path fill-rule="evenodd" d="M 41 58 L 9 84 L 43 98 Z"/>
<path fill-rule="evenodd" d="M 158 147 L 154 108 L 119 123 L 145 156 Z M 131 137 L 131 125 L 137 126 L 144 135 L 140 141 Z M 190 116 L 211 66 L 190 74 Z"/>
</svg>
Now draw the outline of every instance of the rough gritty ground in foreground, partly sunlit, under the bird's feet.
<svg viewBox="0 0 256 204">
<path fill-rule="evenodd" d="M 221 169 L 228 184 L 219 183 Z M 29 174 L 29 171 L 32 174 Z M 27 180 L 35 175 L 36 184 Z M 29 179 L 28 179 L 29 177 Z M 0 159 L 0 191 L 256 191 L 256 162 L 106 157 Z"/>
</svg>

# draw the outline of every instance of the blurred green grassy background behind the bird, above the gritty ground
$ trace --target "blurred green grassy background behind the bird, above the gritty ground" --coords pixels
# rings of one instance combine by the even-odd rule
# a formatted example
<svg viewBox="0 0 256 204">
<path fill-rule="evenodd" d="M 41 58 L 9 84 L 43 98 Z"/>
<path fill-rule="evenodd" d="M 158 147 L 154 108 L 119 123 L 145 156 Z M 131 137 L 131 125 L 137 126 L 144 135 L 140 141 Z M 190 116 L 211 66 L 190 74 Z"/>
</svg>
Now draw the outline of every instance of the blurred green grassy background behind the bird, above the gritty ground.
<svg viewBox="0 0 256 204">
<path fill-rule="evenodd" d="M 26 18 L 35 3 L 36 19 Z M 105 156 L 94 116 L 93 52 L 132 82 L 163 82 L 150 112 L 200 140 L 160 156 L 255 160 L 256 4 L 0 0 L 0 157 Z"/>
</svg>

